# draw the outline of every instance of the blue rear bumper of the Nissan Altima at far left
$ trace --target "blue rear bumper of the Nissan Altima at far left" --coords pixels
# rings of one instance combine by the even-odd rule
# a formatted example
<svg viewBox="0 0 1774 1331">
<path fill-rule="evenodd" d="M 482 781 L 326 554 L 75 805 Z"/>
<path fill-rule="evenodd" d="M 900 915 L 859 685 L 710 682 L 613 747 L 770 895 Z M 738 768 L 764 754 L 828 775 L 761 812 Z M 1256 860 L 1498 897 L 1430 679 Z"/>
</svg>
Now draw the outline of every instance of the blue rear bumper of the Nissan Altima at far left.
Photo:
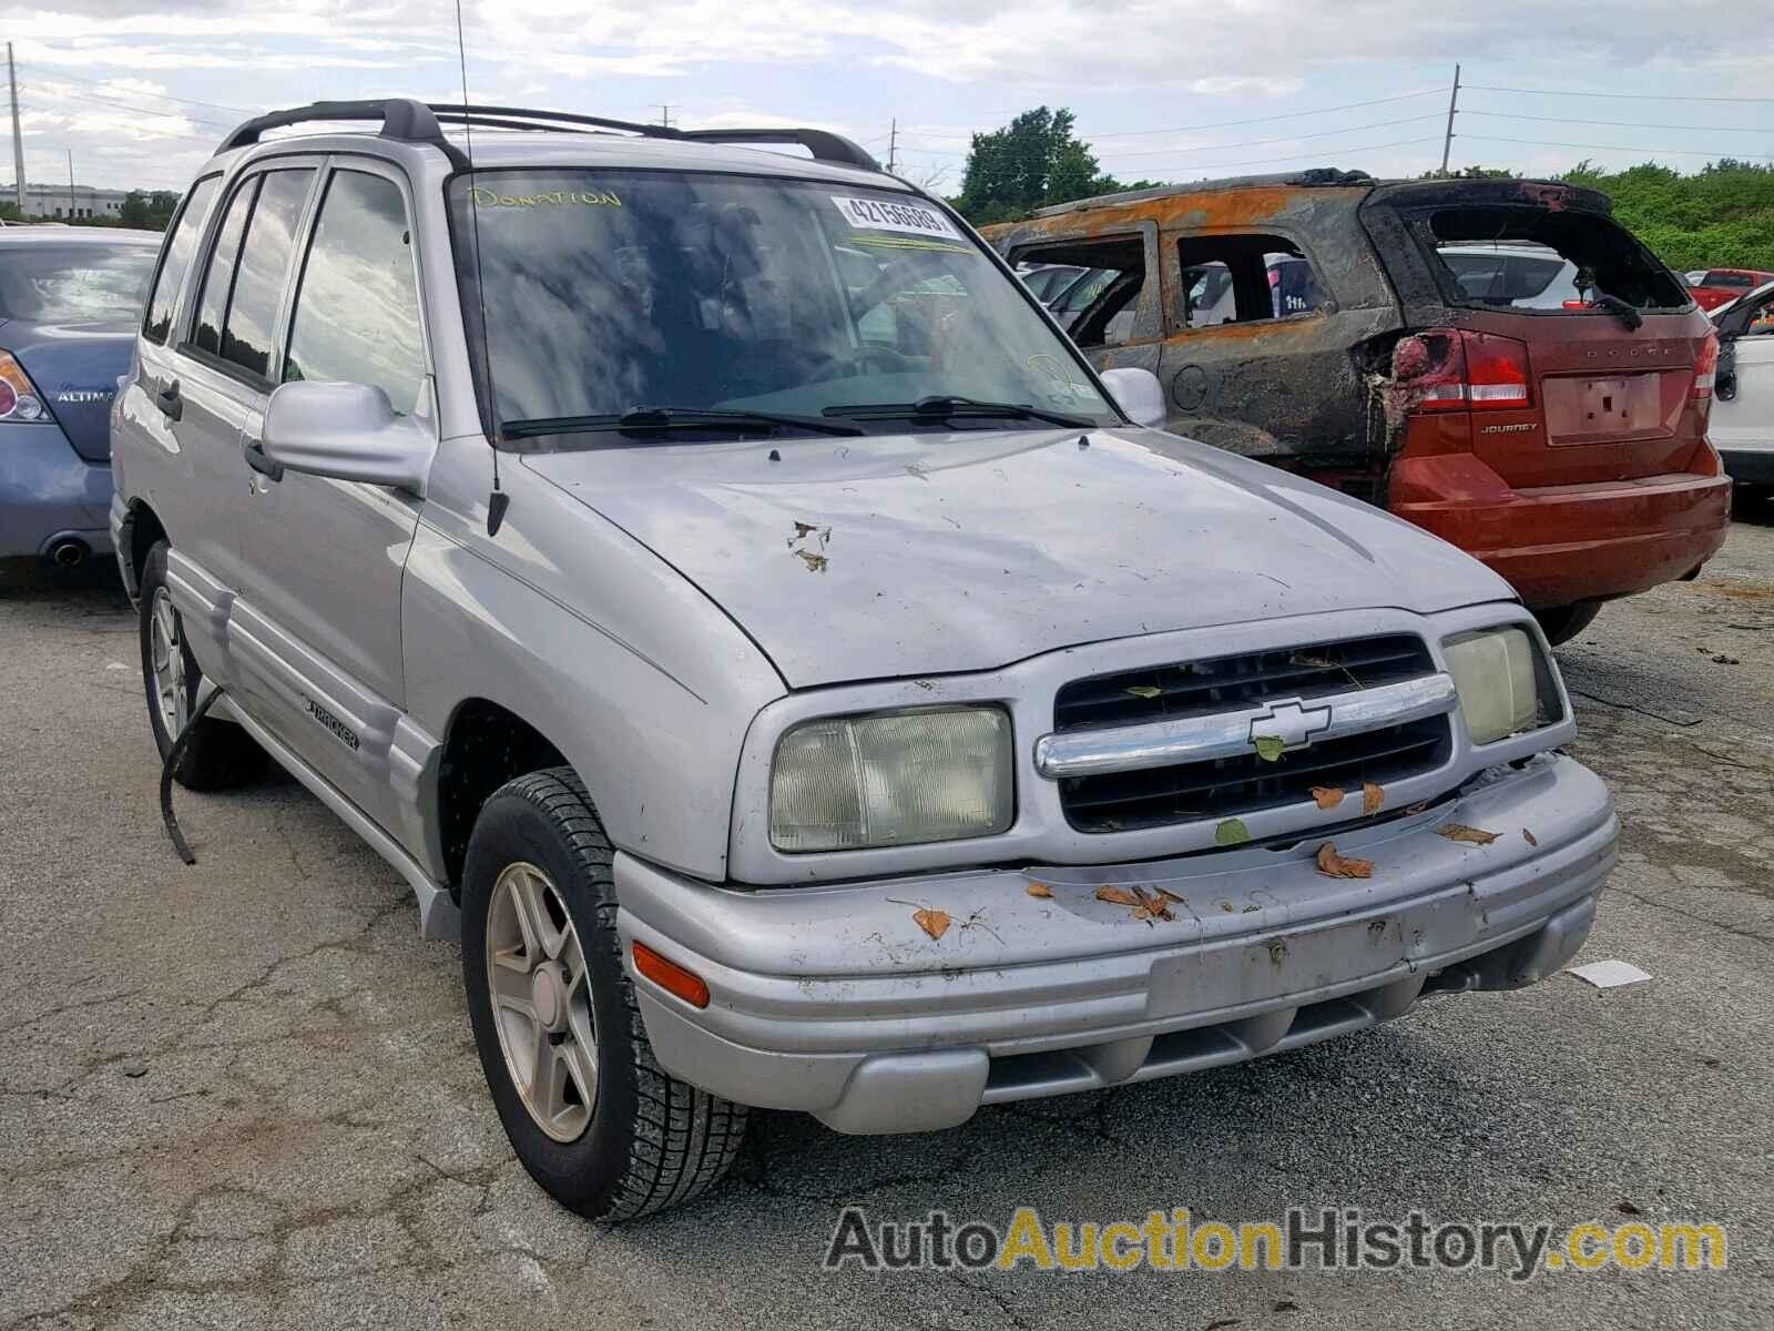
<svg viewBox="0 0 1774 1331">
<path fill-rule="evenodd" d="M 55 424 L 0 424 L 0 559 L 44 555 L 62 536 L 108 554 L 112 472 Z"/>
</svg>

